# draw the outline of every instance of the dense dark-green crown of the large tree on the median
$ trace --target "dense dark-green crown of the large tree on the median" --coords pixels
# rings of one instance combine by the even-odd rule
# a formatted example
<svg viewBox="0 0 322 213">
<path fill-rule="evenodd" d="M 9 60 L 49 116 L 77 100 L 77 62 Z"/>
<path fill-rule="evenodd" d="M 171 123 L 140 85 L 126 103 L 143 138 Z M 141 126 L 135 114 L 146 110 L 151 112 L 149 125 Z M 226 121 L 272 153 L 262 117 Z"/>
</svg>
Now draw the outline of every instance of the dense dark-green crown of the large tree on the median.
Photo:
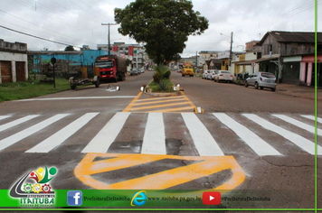
<svg viewBox="0 0 322 213">
<path fill-rule="evenodd" d="M 119 33 L 146 43 L 149 58 L 161 64 L 184 51 L 189 35 L 208 29 L 208 20 L 193 6 L 188 0 L 136 0 L 116 8 L 114 19 Z"/>
</svg>

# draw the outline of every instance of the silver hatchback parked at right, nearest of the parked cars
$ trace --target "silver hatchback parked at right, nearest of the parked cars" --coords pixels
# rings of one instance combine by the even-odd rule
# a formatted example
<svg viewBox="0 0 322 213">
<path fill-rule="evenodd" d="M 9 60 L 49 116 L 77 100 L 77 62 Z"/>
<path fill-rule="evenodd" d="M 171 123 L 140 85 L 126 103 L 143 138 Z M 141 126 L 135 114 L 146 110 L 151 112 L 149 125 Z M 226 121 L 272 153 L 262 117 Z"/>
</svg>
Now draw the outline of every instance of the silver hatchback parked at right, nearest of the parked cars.
<svg viewBox="0 0 322 213">
<path fill-rule="evenodd" d="M 245 80 L 245 87 L 254 86 L 256 89 L 270 88 L 276 90 L 276 77 L 270 72 L 257 72 Z"/>
</svg>

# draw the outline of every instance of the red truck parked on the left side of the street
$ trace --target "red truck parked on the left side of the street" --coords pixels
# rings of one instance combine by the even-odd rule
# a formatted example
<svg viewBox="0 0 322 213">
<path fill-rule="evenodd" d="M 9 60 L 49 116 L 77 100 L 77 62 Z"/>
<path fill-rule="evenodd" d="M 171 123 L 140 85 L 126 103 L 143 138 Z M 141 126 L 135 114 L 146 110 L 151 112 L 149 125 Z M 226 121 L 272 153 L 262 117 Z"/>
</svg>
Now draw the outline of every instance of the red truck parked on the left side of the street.
<svg viewBox="0 0 322 213">
<path fill-rule="evenodd" d="M 95 60 L 95 69 L 99 69 L 100 80 L 123 81 L 127 73 L 127 62 L 117 55 L 101 55 Z"/>
</svg>

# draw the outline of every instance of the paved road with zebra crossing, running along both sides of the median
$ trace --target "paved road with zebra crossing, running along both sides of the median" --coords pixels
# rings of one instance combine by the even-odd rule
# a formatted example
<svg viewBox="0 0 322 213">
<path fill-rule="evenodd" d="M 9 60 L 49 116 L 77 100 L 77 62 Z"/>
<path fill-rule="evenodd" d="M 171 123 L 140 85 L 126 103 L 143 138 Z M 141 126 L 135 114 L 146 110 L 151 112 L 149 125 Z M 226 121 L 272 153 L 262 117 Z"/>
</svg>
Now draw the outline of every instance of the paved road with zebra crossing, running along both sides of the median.
<svg viewBox="0 0 322 213">
<path fill-rule="evenodd" d="M 128 77 L 118 92 L 104 84 L 0 104 L 0 170 L 6 171 L 0 188 L 45 164 L 59 171 L 54 189 L 224 189 L 271 199 L 245 207 L 314 207 L 308 99 L 174 73 L 185 88 L 185 100 L 175 102 L 203 106 L 205 113 L 173 113 L 169 107 L 184 106 L 138 96 L 151 76 Z M 147 99 L 157 102 L 158 113 L 123 112 Z"/>
</svg>

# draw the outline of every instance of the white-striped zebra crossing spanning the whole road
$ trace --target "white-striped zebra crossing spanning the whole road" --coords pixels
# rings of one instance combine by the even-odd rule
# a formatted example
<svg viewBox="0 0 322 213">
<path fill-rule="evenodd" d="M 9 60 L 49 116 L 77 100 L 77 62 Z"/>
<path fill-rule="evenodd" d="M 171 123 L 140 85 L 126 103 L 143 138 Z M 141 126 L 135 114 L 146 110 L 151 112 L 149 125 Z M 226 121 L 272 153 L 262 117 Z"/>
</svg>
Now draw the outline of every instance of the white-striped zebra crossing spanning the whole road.
<svg viewBox="0 0 322 213">
<path fill-rule="evenodd" d="M 137 123 L 133 127 L 129 127 L 128 123 L 134 119 L 133 116 L 137 116 L 139 119 L 136 119 Z M 70 119 L 63 122 L 68 117 Z M 105 124 L 97 128 L 97 133 L 90 140 L 77 138 L 83 147 L 80 153 L 113 153 L 111 147 L 122 144 L 124 133 L 141 135 L 137 131 L 144 130 L 141 139 L 136 143 L 139 146 L 138 153 L 174 153 L 169 149 L 180 149 L 180 146 L 171 145 L 172 141 L 176 140 L 181 145 L 194 148 L 196 152 L 192 153 L 197 153 L 199 156 L 229 155 L 234 153 L 239 146 L 246 147 L 245 149 L 258 156 L 282 156 L 285 153 L 291 154 L 293 151 L 315 154 L 314 116 L 310 115 L 233 113 L 204 115 L 181 113 L 174 115 L 166 113 L 133 114 L 130 112 L 118 112 L 113 114 L 111 118 L 109 118 L 110 115 L 107 116 L 99 112 L 84 115 L 57 114 L 50 117 L 44 115 L 3 115 L 0 116 L 0 154 L 10 150 L 14 145 L 24 144 L 32 135 L 43 133 L 47 133 L 46 135 L 49 136 L 44 139 L 39 137 L 39 141 L 32 144 L 25 143 L 23 152 L 51 153 L 57 148 L 68 151 L 66 144 L 73 137 L 77 137 L 78 133 L 86 133 L 97 117 L 104 120 Z M 175 124 L 179 124 L 177 129 L 182 132 L 175 132 L 173 126 L 166 127 L 171 125 L 172 120 L 175 121 Z M 29 126 L 28 123 L 31 121 L 33 122 Z M 61 123 L 52 131 L 51 126 L 58 122 Z M 318 118 L 317 122 L 321 123 L 321 118 Z M 282 125 L 279 125 L 280 123 Z M 143 127 L 137 128 L 137 126 Z M 303 131 L 297 132 L 293 129 Z M 169 131 L 172 131 L 171 135 Z M 321 133 L 322 131 L 318 128 L 319 138 Z M 274 137 L 273 140 L 268 140 L 270 135 Z M 278 143 L 274 141 L 275 138 L 278 138 Z M 131 143 L 128 142 L 128 144 Z M 289 150 L 289 147 L 292 148 L 290 152 L 281 150 Z M 317 145 L 317 154 L 322 155 L 320 145 Z"/>
</svg>

